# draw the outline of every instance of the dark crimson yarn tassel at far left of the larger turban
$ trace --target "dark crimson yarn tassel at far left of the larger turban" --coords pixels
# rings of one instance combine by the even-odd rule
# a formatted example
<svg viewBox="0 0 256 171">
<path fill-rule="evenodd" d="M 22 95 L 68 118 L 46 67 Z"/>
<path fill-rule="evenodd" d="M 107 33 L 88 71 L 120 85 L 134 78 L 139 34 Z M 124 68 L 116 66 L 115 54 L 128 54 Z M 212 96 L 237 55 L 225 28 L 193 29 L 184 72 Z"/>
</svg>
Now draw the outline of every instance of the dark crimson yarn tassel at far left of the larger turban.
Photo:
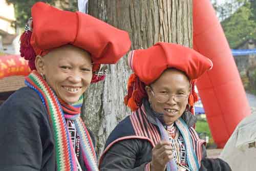
<svg viewBox="0 0 256 171">
<path fill-rule="evenodd" d="M 32 32 L 31 31 L 25 31 L 21 36 L 20 36 L 20 56 L 24 57 L 26 60 L 29 61 L 29 68 L 31 70 L 35 70 L 35 51 L 33 47 L 30 44 L 30 39 L 31 39 Z"/>
</svg>

